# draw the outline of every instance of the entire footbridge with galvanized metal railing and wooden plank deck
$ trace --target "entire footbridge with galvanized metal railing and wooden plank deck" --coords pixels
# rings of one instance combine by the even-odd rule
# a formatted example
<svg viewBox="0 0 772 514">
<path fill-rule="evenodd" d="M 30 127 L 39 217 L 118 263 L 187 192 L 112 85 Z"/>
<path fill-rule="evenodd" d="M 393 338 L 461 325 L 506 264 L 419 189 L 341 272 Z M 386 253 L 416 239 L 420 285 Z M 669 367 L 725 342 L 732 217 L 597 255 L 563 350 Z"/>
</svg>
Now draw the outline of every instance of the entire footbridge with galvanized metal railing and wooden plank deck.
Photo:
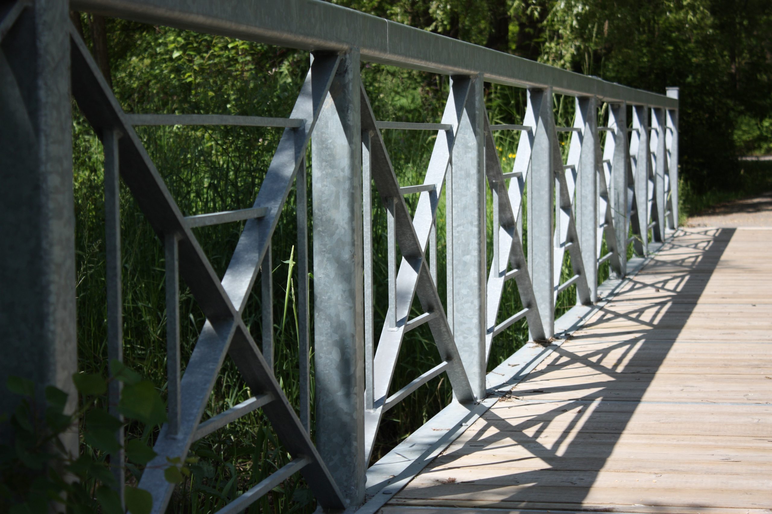
<svg viewBox="0 0 772 514">
<path fill-rule="evenodd" d="M 312 63 L 288 118 L 125 113 L 69 8 L 307 50 Z M 169 421 L 139 483 L 153 512 L 174 492 L 168 459 L 256 409 L 293 460 L 219 512 L 241 512 L 298 472 L 325 512 L 772 512 L 770 232 L 679 227 L 677 88 L 633 89 L 313 0 L 16 0 L 0 16 L 0 210 L 12 220 L 0 227 L 2 374 L 74 392 L 72 94 L 104 149 L 110 358 L 122 358 L 121 181 L 164 247 Z M 377 119 L 362 62 L 449 76 L 441 119 Z M 489 122 L 486 82 L 527 89 L 518 124 Z M 570 126 L 557 126 L 554 95 L 574 102 Z M 134 131 L 147 125 L 283 135 L 253 207 L 186 216 Z M 382 138 L 390 129 L 435 133 L 422 183 L 399 182 Z M 497 131 L 520 133 L 511 168 Z M 258 279 L 272 303 L 262 270 L 290 191 L 298 206 L 313 197 L 296 216 L 306 355 L 297 410 L 273 375 L 273 332 L 252 334 L 242 320 Z M 378 209 L 388 291 L 376 294 Z M 218 276 L 195 229 L 235 221 L 244 230 Z M 180 278 L 206 316 L 185 363 Z M 520 311 L 503 311 L 507 283 Z M 576 305 L 556 318 L 566 294 Z M 376 302 L 388 307 L 382 326 Z M 422 314 L 411 317 L 414 304 Z M 529 342 L 486 372 L 497 336 L 523 321 Z M 423 324 L 441 362 L 396 388 L 402 341 Z M 204 419 L 226 357 L 253 397 Z M 438 375 L 453 401 L 371 462 L 384 414 Z M 13 408 L 2 401 L 2 412 Z M 77 438 L 65 444 L 77 453 Z M 124 462 L 122 450 L 110 462 Z M 113 472 L 122 495 L 124 469 Z"/>
</svg>

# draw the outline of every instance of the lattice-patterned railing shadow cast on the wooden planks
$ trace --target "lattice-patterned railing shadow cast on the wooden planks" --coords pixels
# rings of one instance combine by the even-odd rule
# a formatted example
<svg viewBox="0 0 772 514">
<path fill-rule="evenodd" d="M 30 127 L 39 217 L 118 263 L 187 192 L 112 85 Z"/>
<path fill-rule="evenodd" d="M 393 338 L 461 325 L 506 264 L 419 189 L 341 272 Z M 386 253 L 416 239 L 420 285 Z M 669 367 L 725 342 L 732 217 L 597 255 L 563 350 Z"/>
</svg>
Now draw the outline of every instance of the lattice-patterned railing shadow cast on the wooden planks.
<svg viewBox="0 0 772 514">
<path fill-rule="evenodd" d="M 532 455 L 526 459 L 541 459 L 544 465 L 539 469 L 528 470 L 525 472 L 513 472 L 506 474 L 503 471 L 500 475 L 489 479 L 475 479 L 473 482 L 478 490 L 500 489 L 503 484 L 508 485 L 529 485 L 530 487 L 518 489 L 512 496 L 501 499 L 501 505 L 486 502 L 484 507 L 506 507 L 509 509 L 518 507 L 539 508 L 538 504 L 549 503 L 550 509 L 560 509 L 556 504 L 566 504 L 566 509 L 581 508 L 591 485 L 598 478 L 598 473 L 604 468 L 608 458 L 611 456 L 615 445 L 625 428 L 635 414 L 638 401 L 644 397 L 649 385 L 655 378 L 662 362 L 665 361 L 675 339 L 681 333 L 682 329 L 689 321 L 689 317 L 696 306 L 693 297 L 699 297 L 705 290 L 716 269 L 720 258 L 726 250 L 735 230 L 730 228 L 721 229 L 701 229 L 689 230 L 689 233 L 711 237 L 712 240 L 707 244 L 681 244 L 678 239 L 672 239 L 665 243 L 662 250 L 674 247 L 685 247 L 688 250 L 702 250 L 703 254 L 697 258 L 684 257 L 681 260 L 659 260 L 654 257 L 648 262 L 642 270 L 643 274 L 652 273 L 672 273 L 670 277 L 657 281 L 654 284 L 645 284 L 639 280 L 631 280 L 625 293 L 635 291 L 638 294 L 642 291 L 651 291 L 651 295 L 645 295 L 645 299 L 635 297 L 632 301 L 625 302 L 624 297 L 615 297 L 611 300 L 621 301 L 628 304 L 644 303 L 640 310 L 633 311 L 632 314 L 623 314 L 615 311 L 615 307 L 604 307 L 601 309 L 601 316 L 596 318 L 591 324 L 587 324 L 583 329 L 591 329 L 594 325 L 608 322 L 615 318 L 627 321 L 634 321 L 639 324 L 638 327 L 623 329 L 618 332 L 604 332 L 601 337 L 608 341 L 610 338 L 618 337 L 616 344 L 604 344 L 604 348 L 598 351 L 591 351 L 583 354 L 581 357 L 571 351 L 571 344 L 565 344 L 558 348 L 556 353 L 560 355 L 559 364 L 554 365 L 553 371 L 538 372 L 540 386 L 537 391 L 513 391 L 516 400 L 523 401 L 523 407 L 532 407 L 539 403 L 549 404 L 554 402 L 555 408 L 548 408 L 546 411 L 534 416 L 533 411 L 523 412 L 522 421 L 517 421 L 519 416 L 508 416 L 501 418 L 496 416 L 496 409 L 492 408 L 485 416 L 486 425 L 479 428 L 475 437 L 471 438 L 466 445 L 479 445 L 489 447 L 495 445 L 499 448 L 521 445 Z M 631 284 L 631 285 L 630 285 Z M 624 293 L 623 293 L 624 294 Z M 672 308 L 678 304 L 678 308 Z M 653 312 L 652 312 L 653 310 Z M 652 315 L 653 314 L 653 315 Z M 657 320 L 655 324 L 643 321 L 642 318 Z M 672 337 L 657 338 L 656 340 L 647 339 L 648 331 L 657 327 L 667 327 L 672 330 Z M 670 335 L 670 334 L 668 334 Z M 597 334 L 578 335 L 572 338 L 573 341 L 591 342 L 597 339 Z M 646 344 L 656 341 L 656 344 Z M 569 341 L 570 343 L 571 341 Z M 586 347 L 585 347 L 586 348 Z M 645 349 L 645 351 L 642 351 Z M 598 363 L 604 358 L 608 358 L 612 352 L 620 352 L 615 359 L 615 365 L 606 367 Z M 550 359 L 551 360 L 551 359 Z M 549 385 L 543 385 L 543 381 L 550 380 L 550 373 L 567 368 L 577 361 L 581 361 L 584 366 L 600 371 L 605 378 L 612 378 L 606 381 L 587 382 L 577 386 L 557 386 L 550 388 Z M 622 365 L 624 363 L 624 365 Z M 635 373 L 635 380 L 621 381 L 621 375 Z M 531 375 L 533 378 L 533 375 Z M 564 377 L 563 377 L 564 378 Z M 530 396 L 543 395 L 550 392 L 571 393 L 571 398 L 547 401 L 527 401 Z M 503 401 L 506 401 L 503 400 Z M 591 408 L 591 406 L 596 408 Z M 602 408 L 598 408 L 602 405 Z M 577 415 L 584 411 L 584 416 Z M 502 425 L 506 426 L 502 430 Z M 550 446 L 538 441 L 540 435 L 550 429 L 552 425 L 565 425 L 565 428 L 557 434 Z M 606 426 L 606 428 L 599 428 Z M 614 428 L 609 428 L 609 425 Z M 491 429 L 496 428 L 496 429 Z M 575 431 L 575 432 L 574 432 Z M 480 435 L 479 438 L 476 438 Z M 593 458 L 587 458 L 586 446 L 588 443 L 595 443 L 596 448 Z M 482 448 L 481 448 L 482 449 Z M 457 458 L 461 458 L 464 452 L 449 452 L 445 454 L 441 468 L 442 478 L 448 475 L 452 469 L 469 468 L 472 466 L 452 465 L 454 453 Z M 506 462 L 522 461 L 523 459 L 513 459 L 510 461 L 502 460 L 500 462 L 491 462 L 491 464 L 504 465 Z M 557 474 L 555 472 L 564 472 Z M 428 469 L 425 473 L 432 473 Z M 438 482 L 447 483 L 447 479 L 438 480 Z M 486 487 L 486 485 L 488 487 Z M 554 487 L 553 487 L 554 485 Z M 423 498 L 442 497 L 448 498 L 447 485 L 438 484 L 438 496 L 432 495 L 431 489 L 435 486 L 429 486 L 422 489 Z M 537 487 L 537 489 L 534 489 Z M 549 489 L 546 489 L 549 487 Z M 427 490 L 428 489 L 428 490 Z M 450 496 L 452 499 L 452 495 Z M 506 503 L 506 505 L 505 505 Z M 547 507 L 544 507 L 547 508 Z"/>
</svg>

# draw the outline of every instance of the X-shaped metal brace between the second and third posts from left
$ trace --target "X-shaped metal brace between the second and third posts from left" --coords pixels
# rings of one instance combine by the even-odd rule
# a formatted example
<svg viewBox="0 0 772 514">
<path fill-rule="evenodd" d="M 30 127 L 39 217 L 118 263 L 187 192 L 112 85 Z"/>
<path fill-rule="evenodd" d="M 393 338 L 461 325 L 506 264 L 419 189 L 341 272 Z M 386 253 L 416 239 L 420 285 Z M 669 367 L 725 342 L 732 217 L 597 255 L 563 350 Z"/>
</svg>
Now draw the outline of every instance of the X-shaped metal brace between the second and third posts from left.
<svg viewBox="0 0 772 514">
<path fill-rule="evenodd" d="M 374 359 L 374 408 L 365 411 L 365 455 L 370 459 L 378 424 L 384 413 L 388 388 L 394 376 L 399 348 L 405 336 L 408 314 L 413 298 L 418 295 L 422 308 L 428 314 L 428 325 L 443 361 L 443 368 L 453 386 L 455 399 L 459 402 L 475 400 L 469 379 L 464 370 L 461 356 L 455 346 L 453 334 L 445 316 L 437 287 L 425 258 L 429 233 L 435 223 L 438 193 L 445 182 L 446 170 L 451 165 L 455 131 L 461 122 L 464 106 L 469 96 L 470 80 L 457 78 L 452 82 L 450 96 L 442 115 L 442 123 L 452 125 L 452 130 L 439 130 L 424 183 L 433 185 L 432 191 L 424 191 L 418 200 L 415 217 L 411 219 L 408 206 L 402 197 L 397 176 L 391 166 L 381 132 L 376 126 L 370 100 L 364 87 L 361 89 L 362 132 L 371 137 L 370 157 L 372 177 L 384 207 L 393 210 L 394 229 L 402 254 L 396 276 L 396 312 L 387 314 L 387 320 L 395 319 L 396 326 L 387 321 L 381 331 L 378 351 Z"/>
</svg>

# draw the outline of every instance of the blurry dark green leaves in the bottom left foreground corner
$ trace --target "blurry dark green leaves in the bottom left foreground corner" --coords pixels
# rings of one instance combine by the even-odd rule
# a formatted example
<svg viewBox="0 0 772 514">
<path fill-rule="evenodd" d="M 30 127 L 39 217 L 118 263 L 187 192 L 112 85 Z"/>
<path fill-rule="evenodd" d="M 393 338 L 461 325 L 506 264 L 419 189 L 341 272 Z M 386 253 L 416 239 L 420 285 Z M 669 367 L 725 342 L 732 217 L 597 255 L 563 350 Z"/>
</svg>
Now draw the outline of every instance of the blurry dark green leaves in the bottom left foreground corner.
<svg viewBox="0 0 772 514">
<path fill-rule="evenodd" d="M 141 379 L 131 384 L 125 377 L 139 375 L 120 367 L 125 368 L 124 374 L 111 380 L 124 382 L 121 402 L 161 406 L 161 416 L 146 415 L 139 409 L 136 415 L 127 415 L 127 422 L 151 429 L 164 422 L 163 401 L 154 385 Z M 0 445 L 0 512 L 47 514 L 51 504 L 59 504 L 66 514 L 123 514 L 120 498 L 113 490 L 117 483 L 110 467 L 124 463 L 108 464 L 106 457 L 120 449 L 122 442 L 117 440 L 116 431 L 124 422 L 102 407 L 107 403 L 103 397 L 107 381 L 103 376 L 76 373 L 73 382 L 81 395 L 81 407 L 76 412 L 67 412 L 67 394 L 61 389 L 47 386 L 45 401 L 40 403 L 35 384 L 24 378 L 8 378 L 8 391 L 19 395 L 20 401 L 9 420 L 12 440 Z M 144 386 L 141 390 L 132 389 L 136 385 Z M 76 429 L 86 448 L 80 456 L 69 455 L 63 444 Z M 147 438 L 130 440 L 126 453 L 137 465 L 145 465 L 155 456 Z M 182 462 L 170 462 L 168 469 L 189 472 Z M 134 470 L 140 471 L 137 467 Z M 150 512 L 149 492 L 127 485 L 125 495 L 132 514 Z"/>
</svg>

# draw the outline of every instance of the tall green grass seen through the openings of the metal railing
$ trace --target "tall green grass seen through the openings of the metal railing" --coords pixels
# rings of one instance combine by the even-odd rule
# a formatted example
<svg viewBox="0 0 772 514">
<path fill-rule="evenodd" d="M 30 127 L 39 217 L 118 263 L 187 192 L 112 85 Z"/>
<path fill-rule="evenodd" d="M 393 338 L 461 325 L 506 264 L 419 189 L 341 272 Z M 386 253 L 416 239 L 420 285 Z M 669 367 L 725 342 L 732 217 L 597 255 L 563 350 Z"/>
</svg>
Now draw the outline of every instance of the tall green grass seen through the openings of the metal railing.
<svg viewBox="0 0 772 514">
<path fill-rule="evenodd" d="M 220 36 L 200 35 L 128 22 L 111 22 L 113 87 L 124 110 L 130 113 L 231 113 L 288 116 L 308 69 L 308 56 Z M 446 77 L 388 66 L 364 65 L 362 80 L 378 119 L 438 122 L 449 83 Z M 486 86 L 491 123 L 522 123 L 525 92 L 504 86 Z M 571 124 L 573 102 L 556 96 L 559 125 Z M 101 145 L 75 107 L 73 150 L 76 195 L 77 311 L 80 369 L 105 372 L 106 307 L 103 246 L 103 160 Z M 244 127 L 145 127 L 138 129 L 165 183 L 185 215 L 250 207 L 279 141 L 277 129 Z M 496 146 L 506 171 L 511 168 L 520 133 L 499 131 Z M 402 185 L 424 180 L 433 133 L 384 131 L 384 142 Z M 561 134 L 561 150 L 567 150 Z M 309 156 L 309 166 L 310 163 Z M 310 180 L 310 176 L 309 176 Z M 308 188 L 310 191 L 310 187 Z M 388 308 L 386 291 L 387 236 L 384 207 L 373 190 L 374 276 L 376 340 Z M 417 197 L 408 197 L 415 210 Z M 488 256 L 493 255 L 492 197 L 488 192 Z M 309 199 L 310 202 L 310 199 Z M 310 205 L 310 203 L 309 203 Z M 292 259 L 296 245 L 296 200 L 290 193 L 273 235 L 273 302 L 275 373 L 293 405 L 298 405 L 297 325 L 294 318 L 297 277 Z M 523 206 L 523 217 L 525 207 Z M 445 299 L 445 197 L 438 213 L 438 291 Z M 527 221 L 527 220 L 526 220 Z M 309 219 L 313 237 L 313 218 Z M 121 190 L 123 240 L 124 359 L 140 369 L 162 391 L 166 389 L 164 253 L 162 246 L 130 193 Z M 196 229 L 196 237 L 212 266 L 222 277 L 242 230 L 242 223 Z M 523 241 L 527 240 L 524 223 Z M 310 248 L 312 246 L 310 245 Z M 560 281 L 571 277 L 570 259 L 564 261 Z M 599 281 L 608 276 L 608 264 Z M 313 297 L 313 280 L 311 280 Z M 259 341 L 261 299 L 259 287 L 249 297 L 243 317 Z M 575 304 L 575 287 L 561 293 L 557 315 Z M 188 360 L 205 321 L 190 291 L 181 288 L 182 362 Z M 522 303 L 514 281 L 506 284 L 499 320 Z M 284 313 L 287 313 L 286 315 Z M 412 316 L 421 314 L 415 302 Z M 496 337 L 489 369 L 527 341 L 526 322 L 520 321 Z M 312 327 L 313 342 L 313 327 Z M 313 351 L 313 350 L 312 350 Z M 312 375 L 313 375 L 313 354 Z M 427 325 L 411 331 L 401 348 L 392 391 L 438 364 L 439 356 Z M 312 398 L 313 398 L 313 380 Z M 226 359 L 206 408 L 205 417 L 222 412 L 252 395 Z M 429 381 L 388 412 L 378 432 L 374 459 L 407 437 L 447 405 L 452 390 L 444 375 Z M 312 413 L 313 414 L 313 413 Z M 155 429 L 128 428 L 129 437 L 154 438 Z M 312 415 L 313 434 L 313 415 Z M 289 462 L 266 418 L 255 412 L 196 442 L 191 452 L 200 458 L 192 475 L 174 492 L 171 512 L 214 512 L 249 486 Z M 138 479 L 138 473 L 130 476 Z M 249 512 L 312 512 L 313 498 L 300 479 L 290 479 L 249 508 Z"/>
</svg>

